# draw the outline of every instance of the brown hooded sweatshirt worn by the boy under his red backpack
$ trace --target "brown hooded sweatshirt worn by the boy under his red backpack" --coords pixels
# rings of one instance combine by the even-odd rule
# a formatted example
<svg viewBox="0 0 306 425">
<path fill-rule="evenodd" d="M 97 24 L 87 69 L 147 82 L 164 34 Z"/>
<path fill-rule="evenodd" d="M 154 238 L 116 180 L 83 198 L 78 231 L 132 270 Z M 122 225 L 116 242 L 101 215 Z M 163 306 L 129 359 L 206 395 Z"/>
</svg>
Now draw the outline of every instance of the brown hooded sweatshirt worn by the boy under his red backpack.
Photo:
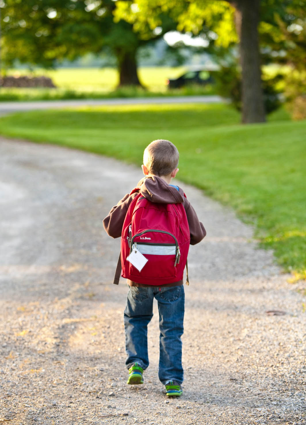
<svg viewBox="0 0 306 425">
<path fill-rule="evenodd" d="M 202 241 L 206 235 L 206 230 L 199 221 L 196 212 L 191 206 L 188 199 L 184 196 L 183 190 L 179 187 L 177 190 L 176 187 L 168 184 L 163 178 L 157 176 L 147 176 L 142 178 L 137 187 L 139 188 L 138 192 L 132 193 L 129 195 L 127 193 L 121 201 L 118 202 L 115 207 L 112 207 L 107 217 L 103 220 L 103 226 L 105 231 L 112 238 L 119 238 L 121 236 L 122 227 L 126 212 L 129 208 L 129 204 L 138 195 L 140 192 L 145 198 L 149 201 L 156 202 L 157 204 L 183 204 L 190 230 L 190 244 L 195 245 Z M 132 280 L 127 280 L 127 283 L 130 286 L 149 286 L 143 285 L 141 283 L 132 282 Z M 165 286 L 178 286 L 182 285 L 183 281 L 170 283 Z"/>
</svg>

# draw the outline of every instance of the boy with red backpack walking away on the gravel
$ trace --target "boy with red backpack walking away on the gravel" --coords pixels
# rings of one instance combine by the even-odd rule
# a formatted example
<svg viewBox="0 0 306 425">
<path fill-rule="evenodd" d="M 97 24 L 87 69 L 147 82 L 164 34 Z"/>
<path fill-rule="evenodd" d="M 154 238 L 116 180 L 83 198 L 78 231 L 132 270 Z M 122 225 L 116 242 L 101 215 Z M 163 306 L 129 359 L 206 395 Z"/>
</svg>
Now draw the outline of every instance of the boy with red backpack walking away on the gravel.
<svg viewBox="0 0 306 425">
<path fill-rule="evenodd" d="M 178 161 L 178 150 L 168 140 L 155 140 L 150 143 L 143 154 L 142 170 L 145 177 L 139 181 L 137 188 L 130 194 L 126 194 L 103 220 L 107 234 L 113 238 L 122 236 L 122 241 L 127 240 L 128 249 L 133 253 L 133 256 L 129 255 L 126 258 L 124 249 L 121 248 L 123 276 L 128 278 L 129 285 L 124 311 L 126 367 L 129 370 L 127 383 L 142 384 L 143 371 L 149 365 L 147 326 L 153 317 L 153 300 L 155 298 L 160 317 L 158 376 L 166 386 L 166 394 L 169 397 L 177 397 L 182 394 L 181 336 L 185 305 L 182 273 L 187 259 L 189 236 L 190 244 L 195 245 L 206 235 L 203 224 L 197 218 L 197 214 L 182 189 L 171 185 L 172 178 L 178 172 Z M 154 227 L 154 229 L 142 230 L 135 235 L 135 224 L 132 222 L 126 226 L 129 217 L 138 209 L 138 203 L 144 203 L 141 211 L 151 214 L 151 217 L 152 214 L 160 214 L 157 217 L 160 227 L 162 226 L 162 217 L 167 214 L 175 216 L 176 221 L 173 221 L 172 227 L 175 226 L 178 229 L 174 229 L 173 233 L 185 232 L 187 234 L 185 245 L 188 246 L 182 252 L 181 262 L 180 247 L 172 232 L 159 230 L 160 227 L 157 224 L 156 229 Z M 171 209 L 174 210 L 173 214 Z M 159 210 L 162 210 L 163 213 L 160 213 Z M 143 218 L 143 215 L 141 217 L 143 221 L 150 221 Z M 124 232 L 127 232 L 126 235 Z M 169 243 L 170 240 L 167 239 L 169 237 L 172 243 Z M 161 244 L 162 240 L 166 242 L 163 245 Z M 154 255 L 156 253 L 159 255 Z M 158 258 L 158 260 L 154 263 L 153 258 Z M 166 261 L 171 261 L 171 267 L 165 266 Z M 126 264 L 129 266 L 127 268 L 129 270 L 125 272 Z M 178 264 L 180 265 L 178 266 Z M 173 271 L 170 272 L 170 269 L 174 269 L 174 275 L 171 274 Z M 142 270 L 147 270 L 147 275 L 141 274 Z"/>
</svg>

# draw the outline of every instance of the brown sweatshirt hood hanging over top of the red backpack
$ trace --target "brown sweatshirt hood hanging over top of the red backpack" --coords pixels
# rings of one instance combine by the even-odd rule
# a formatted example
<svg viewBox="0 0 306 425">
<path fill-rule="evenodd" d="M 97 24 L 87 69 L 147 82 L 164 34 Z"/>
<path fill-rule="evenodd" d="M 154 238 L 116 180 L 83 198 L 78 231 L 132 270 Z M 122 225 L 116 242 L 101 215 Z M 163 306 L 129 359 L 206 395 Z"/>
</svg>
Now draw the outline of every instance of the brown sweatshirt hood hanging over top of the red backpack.
<svg viewBox="0 0 306 425">
<path fill-rule="evenodd" d="M 168 184 L 163 178 L 158 176 L 148 176 L 142 178 L 138 187 L 140 187 L 140 193 L 146 199 L 157 204 L 181 204 L 184 202 L 184 192 L 179 187 Z"/>
</svg>

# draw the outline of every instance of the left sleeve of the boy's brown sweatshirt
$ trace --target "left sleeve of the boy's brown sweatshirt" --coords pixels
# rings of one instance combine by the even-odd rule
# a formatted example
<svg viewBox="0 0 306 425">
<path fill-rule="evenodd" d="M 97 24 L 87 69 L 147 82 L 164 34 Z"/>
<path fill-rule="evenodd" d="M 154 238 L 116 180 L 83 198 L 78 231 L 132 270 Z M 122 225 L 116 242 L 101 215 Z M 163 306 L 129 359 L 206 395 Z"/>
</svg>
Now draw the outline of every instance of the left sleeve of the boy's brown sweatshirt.
<svg viewBox="0 0 306 425">
<path fill-rule="evenodd" d="M 133 196 L 127 193 L 115 207 L 112 207 L 107 217 L 104 218 L 103 227 L 112 238 L 120 238 L 126 212 L 132 200 Z"/>
</svg>

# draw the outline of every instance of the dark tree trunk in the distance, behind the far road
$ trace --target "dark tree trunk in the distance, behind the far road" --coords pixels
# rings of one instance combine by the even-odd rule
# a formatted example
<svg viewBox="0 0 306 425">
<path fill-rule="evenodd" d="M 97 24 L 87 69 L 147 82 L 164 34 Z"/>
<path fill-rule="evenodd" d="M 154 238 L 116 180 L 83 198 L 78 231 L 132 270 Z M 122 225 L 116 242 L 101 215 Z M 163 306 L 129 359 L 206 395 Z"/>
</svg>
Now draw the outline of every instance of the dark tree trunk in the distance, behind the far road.
<svg viewBox="0 0 306 425">
<path fill-rule="evenodd" d="M 139 85 L 140 81 L 137 74 L 136 50 L 117 51 L 119 86 Z"/>
</svg>

